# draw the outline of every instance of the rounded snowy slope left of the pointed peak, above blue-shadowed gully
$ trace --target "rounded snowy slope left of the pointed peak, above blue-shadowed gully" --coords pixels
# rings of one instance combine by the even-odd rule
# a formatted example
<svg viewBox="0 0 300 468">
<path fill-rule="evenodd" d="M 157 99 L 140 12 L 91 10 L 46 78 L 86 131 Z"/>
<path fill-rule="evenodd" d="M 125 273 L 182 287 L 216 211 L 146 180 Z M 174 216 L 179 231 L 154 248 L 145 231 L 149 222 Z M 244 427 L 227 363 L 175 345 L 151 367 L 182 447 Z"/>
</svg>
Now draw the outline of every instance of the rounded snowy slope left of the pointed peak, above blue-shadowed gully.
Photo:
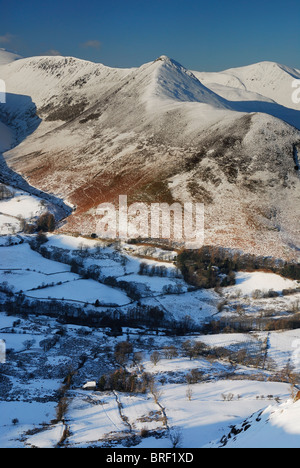
<svg viewBox="0 0 300 468">
<path fill-rule="evenodd" d="M 80 115 L 129 71 L 71 57 L 32 57 L 0 66 L 7 91 L 2 120 L 15 128 L 18 142 L 32 126 L 39 126 L 39 134 L 47 132 Z"/>
</svg>

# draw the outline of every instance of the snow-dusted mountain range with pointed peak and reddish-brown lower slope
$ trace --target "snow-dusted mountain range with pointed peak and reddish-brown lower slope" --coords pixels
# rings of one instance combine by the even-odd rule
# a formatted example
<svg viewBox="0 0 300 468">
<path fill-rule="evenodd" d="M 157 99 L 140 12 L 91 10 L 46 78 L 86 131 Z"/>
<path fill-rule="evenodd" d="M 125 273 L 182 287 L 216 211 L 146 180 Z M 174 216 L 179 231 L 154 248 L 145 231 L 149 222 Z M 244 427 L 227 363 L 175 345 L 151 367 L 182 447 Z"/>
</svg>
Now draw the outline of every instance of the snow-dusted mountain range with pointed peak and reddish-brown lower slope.
<svg viewBox="0 0 300 468">
<path fill-rule="evenodd" d="M 207 244 L 297 255 L 300 112 L 288 102 L 297 70 L 202 74 L 166 56 L 137 69 L 34 57 L 1 65 L 0 76 L 0 117 L 15 138 L 5 160 L 76 205 L 65 230 L 94 232 L 95 208 L 119 195 L 198 201 Z"/>
</svg>

